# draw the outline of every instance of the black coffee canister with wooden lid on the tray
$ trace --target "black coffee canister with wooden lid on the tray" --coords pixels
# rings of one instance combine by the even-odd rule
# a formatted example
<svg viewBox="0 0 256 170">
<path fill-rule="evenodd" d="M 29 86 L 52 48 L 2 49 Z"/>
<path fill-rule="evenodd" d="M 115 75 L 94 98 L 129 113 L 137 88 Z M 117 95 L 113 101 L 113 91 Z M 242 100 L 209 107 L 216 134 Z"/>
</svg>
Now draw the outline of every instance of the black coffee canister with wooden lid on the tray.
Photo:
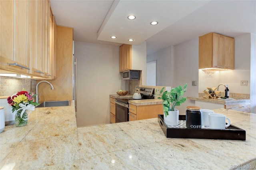
<svg viewBox="0 0 256 170">
<path fill-rule="evenodd" d="M 197 106 L 187 106 L 186 110 L 186 127 L 202 128 L 201 108 Z"/>
</svg>

